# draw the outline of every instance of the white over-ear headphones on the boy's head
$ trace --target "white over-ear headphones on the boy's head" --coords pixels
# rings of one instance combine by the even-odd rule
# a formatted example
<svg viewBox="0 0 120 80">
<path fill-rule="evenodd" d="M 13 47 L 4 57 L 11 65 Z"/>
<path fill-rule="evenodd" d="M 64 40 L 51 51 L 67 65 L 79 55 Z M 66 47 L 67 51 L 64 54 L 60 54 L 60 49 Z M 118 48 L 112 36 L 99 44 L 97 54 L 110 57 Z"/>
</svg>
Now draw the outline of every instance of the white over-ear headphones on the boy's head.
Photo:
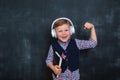
<svg viewBox="0 0 120 80">
<path fill-rule="evenodd" d="M 74 26 L 73 26 L 72 21 L 71 21 L 70 19 L 68 19 L 68 18 L 61 17 L 61 18 L 55 19 L 55 20 L 53 21 L 53 23 L 52 23 L 52 26 L 51 26 L 51 35 L 52 35 L 52 37 L 55 37 L 55 38 L 57 37 L 56 32 L 55 32 L 55 29 L 53 29 L 53 27 L 54 27 L 55 22 L 58 21 L 58 20 L 60 20 L 60 19 L 64 19 L 64 20 L 67 20 L 67 21 L 70 22 L 70 24 L 71 24 L 71 26 L 70 26 L 70 34 L 71 34 L 71 35 L 74 34 L 74 33 L 75 33 L 75 28 L 74 28 Z"/>
</svg>

